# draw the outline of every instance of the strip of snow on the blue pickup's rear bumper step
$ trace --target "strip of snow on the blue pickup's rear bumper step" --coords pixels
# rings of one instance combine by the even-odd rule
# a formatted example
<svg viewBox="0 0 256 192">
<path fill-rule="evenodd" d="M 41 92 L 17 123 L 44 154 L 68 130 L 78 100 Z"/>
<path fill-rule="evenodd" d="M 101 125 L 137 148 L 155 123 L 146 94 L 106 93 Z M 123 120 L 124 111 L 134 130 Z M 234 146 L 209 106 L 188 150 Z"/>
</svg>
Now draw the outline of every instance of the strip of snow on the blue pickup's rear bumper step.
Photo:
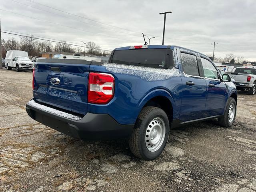
<svg viewBox="0 0 256 192">
<path fill-rule="evenodd" d="M 62 116 L 64 118 L 68 118 L 68 119 L 71 119 L 71 120 L 77 121 L 77 120 L 82 119 L 81 117 L 78 117 L 78 116 L 75 116 L 75 115 L 63 112 L 63 111 L 59 111 L 59 110 L 56 110 L 56 109 L 53 109 L 53 108 L 41 105 L 39 103 L 36 103 L 34 100 L 29 101 L 28 104 L 30 106 L 35 107 L 35 108 L 38 108 L 38 109 L 41 109 L 41 110 L 47 111 L 49 113 L 52 113 L 52 114 L 55 114 L 55 115 L 58 115 L 58 116 Z"/>
</svg>

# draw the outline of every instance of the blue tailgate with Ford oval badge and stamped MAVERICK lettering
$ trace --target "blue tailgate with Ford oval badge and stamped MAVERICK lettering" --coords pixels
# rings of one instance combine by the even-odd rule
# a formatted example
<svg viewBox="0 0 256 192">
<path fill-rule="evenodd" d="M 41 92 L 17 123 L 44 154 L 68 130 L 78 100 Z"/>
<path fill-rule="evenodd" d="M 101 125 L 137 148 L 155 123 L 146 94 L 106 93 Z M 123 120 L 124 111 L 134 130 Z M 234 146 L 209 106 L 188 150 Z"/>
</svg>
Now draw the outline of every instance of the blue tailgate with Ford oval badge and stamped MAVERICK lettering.
<svg viewBox="0 0 256 192">
<path fill-rule="evenodd" d="M 38 61 L 34 72 L 34 98 L 51 106 L 86 114 L 91 62 L 72 59 Z"/>
</svg>

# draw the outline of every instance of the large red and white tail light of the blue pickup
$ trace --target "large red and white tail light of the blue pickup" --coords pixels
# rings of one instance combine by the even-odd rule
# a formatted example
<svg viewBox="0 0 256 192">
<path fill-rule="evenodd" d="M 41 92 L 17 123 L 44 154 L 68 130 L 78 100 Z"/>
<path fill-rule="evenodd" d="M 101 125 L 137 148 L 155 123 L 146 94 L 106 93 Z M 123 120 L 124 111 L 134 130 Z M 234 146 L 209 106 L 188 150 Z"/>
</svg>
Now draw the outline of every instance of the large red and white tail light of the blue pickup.
<svg viewBox="0 0 256 192">
<path fill-rule="evenodd" d="M 90 72 L 88 103 L 107 104 L 114 97 L 115 78 L 111 74 Z"/>
</svg>

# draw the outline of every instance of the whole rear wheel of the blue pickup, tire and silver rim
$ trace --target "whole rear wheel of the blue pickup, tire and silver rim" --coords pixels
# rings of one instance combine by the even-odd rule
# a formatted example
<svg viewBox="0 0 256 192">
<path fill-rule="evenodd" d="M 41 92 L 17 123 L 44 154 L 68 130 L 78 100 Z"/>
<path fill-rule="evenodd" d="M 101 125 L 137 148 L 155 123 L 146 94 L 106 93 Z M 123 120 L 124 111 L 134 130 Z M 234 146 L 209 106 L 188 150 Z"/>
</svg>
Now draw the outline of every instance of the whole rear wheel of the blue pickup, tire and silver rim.
<svg viewBox="0 0 256 192">
<path fill-rule="evenodd" d="M 130 149 L 138 158 L 157 158 L 168 142 L 169 132 L 169 120 L 164 110 L 145 107 L 138 116 L 129 138 Z"/>
</svg>

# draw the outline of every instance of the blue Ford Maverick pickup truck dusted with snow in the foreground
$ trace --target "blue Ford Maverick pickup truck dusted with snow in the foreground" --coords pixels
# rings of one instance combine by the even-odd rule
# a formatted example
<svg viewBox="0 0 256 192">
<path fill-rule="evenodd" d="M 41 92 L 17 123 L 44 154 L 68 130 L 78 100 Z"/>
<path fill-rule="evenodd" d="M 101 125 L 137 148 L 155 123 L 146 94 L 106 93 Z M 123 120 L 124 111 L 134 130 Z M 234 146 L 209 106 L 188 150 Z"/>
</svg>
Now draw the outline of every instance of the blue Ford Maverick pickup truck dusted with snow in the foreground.
<svg viewBox="0 0 256 192">
<path fill-rule="evenodd" d="M 170 128 L 218 118 L 232 126 L 237 91 L 204 54 L 178 46 L 116 48 L 108 63 L 38 60 L 28 115 L 82 140 L 129 138 L 132 153 L 158 157 Z"/>
</svg>

